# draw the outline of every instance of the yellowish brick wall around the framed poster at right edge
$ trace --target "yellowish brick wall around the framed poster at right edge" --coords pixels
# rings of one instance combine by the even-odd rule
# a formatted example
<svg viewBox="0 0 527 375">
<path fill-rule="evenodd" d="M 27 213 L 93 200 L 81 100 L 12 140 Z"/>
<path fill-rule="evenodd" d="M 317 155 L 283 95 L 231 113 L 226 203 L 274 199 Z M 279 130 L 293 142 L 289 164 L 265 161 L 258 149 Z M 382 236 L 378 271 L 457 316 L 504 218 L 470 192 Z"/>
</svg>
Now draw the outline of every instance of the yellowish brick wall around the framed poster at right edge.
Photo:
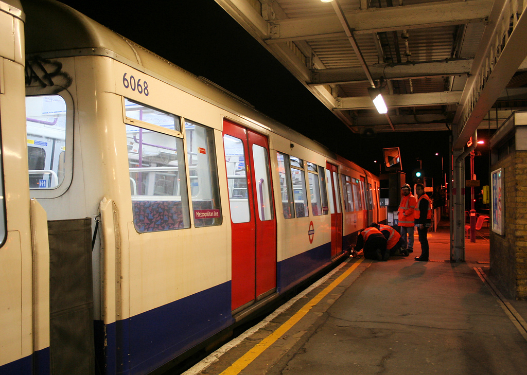
<svg viewBox="0 0 527 375">
<path fill-rule="evenodd" d="M 490 274 L 502 293 L 527 299 L 527 151 L 507 155 L 491 171 L 499 168 L 505 190 L 505 233 L 490 232 Z"/>
</svg>

